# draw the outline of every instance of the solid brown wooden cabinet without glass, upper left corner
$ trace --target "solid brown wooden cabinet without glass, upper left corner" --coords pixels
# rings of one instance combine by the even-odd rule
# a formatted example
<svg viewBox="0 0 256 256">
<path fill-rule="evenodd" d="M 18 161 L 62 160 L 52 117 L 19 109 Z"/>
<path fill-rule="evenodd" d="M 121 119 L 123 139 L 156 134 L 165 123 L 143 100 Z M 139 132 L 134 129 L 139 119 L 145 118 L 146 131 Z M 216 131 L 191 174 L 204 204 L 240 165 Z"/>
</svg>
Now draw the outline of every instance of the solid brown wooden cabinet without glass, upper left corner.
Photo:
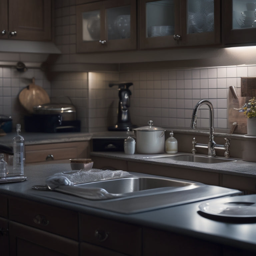
<svg viewBox="0 0 256 256">
<path fill-rule="evenodd" d="M 51 0 L 1 0 L 1 39 L 50 41 Z"/>
</svg>

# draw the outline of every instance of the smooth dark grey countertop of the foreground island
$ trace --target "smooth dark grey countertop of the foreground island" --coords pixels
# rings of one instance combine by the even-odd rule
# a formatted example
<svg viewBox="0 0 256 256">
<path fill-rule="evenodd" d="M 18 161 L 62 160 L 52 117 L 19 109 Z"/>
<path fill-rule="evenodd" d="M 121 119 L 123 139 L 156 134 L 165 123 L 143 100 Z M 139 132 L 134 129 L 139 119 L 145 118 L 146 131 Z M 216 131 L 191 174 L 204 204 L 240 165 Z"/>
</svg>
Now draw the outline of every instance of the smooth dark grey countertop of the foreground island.
<svg viewBox="0 0 256 256">
<path fill-rule="evenodd" d="M 21 197 L 103 218 L 256 250 L 255 219 L 250 223 L 232 223 L 205 218 L 198 213 L 202 201 L 146 212 L 121 214 L 94 207 L 92 201 L 83 198 L 55 191 L 32 189 L 34 185 L 44 185 L 48 176 L 67 171 L 70 171 L 69 164 L 52 164 L 50 168 L 49 165 L 25 166 L 24 175 L 28 179 L 24 182 L 0 184 L 0 192 L 2 195 Z M 104 203 L 107 203 L 107 200 Z"/>
</svg>

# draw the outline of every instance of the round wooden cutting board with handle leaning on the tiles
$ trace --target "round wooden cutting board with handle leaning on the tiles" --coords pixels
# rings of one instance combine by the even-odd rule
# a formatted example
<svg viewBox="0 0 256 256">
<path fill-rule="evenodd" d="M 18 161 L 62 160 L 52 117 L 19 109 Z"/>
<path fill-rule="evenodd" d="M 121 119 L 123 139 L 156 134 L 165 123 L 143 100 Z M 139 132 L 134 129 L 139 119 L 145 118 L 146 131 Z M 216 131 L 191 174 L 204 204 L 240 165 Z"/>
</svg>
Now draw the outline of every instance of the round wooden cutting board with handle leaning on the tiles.
<svg viewBox="0 0 256 256">
<path fill-rule="evenodd" d="M 29 113 L 33 113 L 34 106 L 50 103 L 50 98 L 42 87 L 35 84 L 33 77 L 32 83 L 19 93 L 19 101 Z"/>
</svg>

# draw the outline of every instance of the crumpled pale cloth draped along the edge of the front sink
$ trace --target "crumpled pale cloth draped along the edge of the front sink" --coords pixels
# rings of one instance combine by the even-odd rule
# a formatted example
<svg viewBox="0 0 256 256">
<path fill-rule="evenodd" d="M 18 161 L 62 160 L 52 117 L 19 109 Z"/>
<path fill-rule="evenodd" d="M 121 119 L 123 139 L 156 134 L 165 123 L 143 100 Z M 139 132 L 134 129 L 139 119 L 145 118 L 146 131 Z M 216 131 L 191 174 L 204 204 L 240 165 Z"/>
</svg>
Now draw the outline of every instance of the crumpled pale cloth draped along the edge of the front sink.
<svg viewBox="0 0 256 256">
<path fill-rule="evenodd" d="M 123 178 L 127 176 L 133 176 L 126 171 L 112 171 L 112 170 L 100 170 L 91 169 L 89 171 L 70 171 L 70 172 L 60 172 L 55 173 L 46 179 L 46 185 L 49 187 L 57 187 L 60 185 L 75 185 L 86 182 L 101 181 Z"/>
</svg>

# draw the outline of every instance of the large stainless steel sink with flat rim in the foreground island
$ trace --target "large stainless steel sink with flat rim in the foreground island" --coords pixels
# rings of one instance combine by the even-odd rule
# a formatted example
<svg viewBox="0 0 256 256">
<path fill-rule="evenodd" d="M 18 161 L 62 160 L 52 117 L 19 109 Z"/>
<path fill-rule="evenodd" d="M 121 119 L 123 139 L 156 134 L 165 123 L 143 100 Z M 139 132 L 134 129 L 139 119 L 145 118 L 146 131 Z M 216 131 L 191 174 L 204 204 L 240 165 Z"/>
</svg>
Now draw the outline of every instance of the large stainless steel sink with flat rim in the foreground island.
<svg viewBox="0 0 256 256">
<path fill-rule="evenodd" d="M 130 174 L 131 176 L 126 178 L 76 184 L 72 193 L 65 197 L 61 193 L 45 193 L 44 196 L 54 196 L 58 200 L 85 205 L 91 209 L 99 208 L 105 211 L 132 214 L 241 193 L 238 190 L 189 180 L 135 172 Z M 83 190 L 83 188 L 87 189 Z M 83 193 L 88 193 L 88 188 L 92 189 L 92 193 L 95 191 L 93 188 L 102 188 L 117 197 L 107 200 L 81 198 Z M 79 194 L 76 195 L 74 191 L 77 190 Z"/>
</svg>

